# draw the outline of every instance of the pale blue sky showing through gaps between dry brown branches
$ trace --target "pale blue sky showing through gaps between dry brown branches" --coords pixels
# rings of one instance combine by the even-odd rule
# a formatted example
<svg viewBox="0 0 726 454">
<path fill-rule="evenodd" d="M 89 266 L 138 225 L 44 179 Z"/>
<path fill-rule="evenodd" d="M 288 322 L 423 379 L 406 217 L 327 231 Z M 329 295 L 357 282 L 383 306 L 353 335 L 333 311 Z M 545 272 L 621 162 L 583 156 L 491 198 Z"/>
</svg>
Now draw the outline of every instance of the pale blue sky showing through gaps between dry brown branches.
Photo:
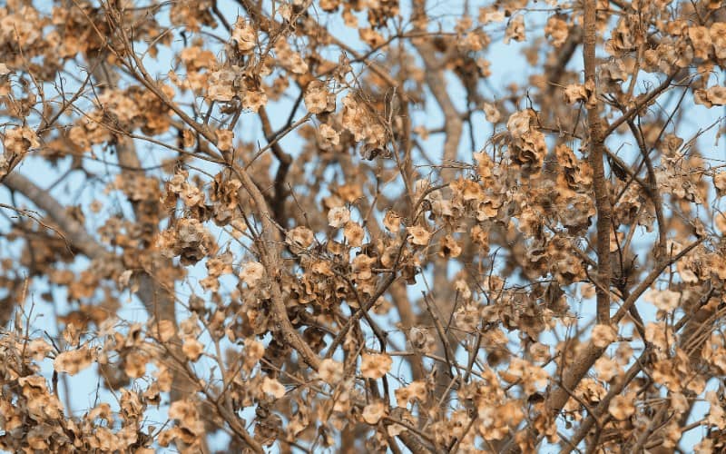
<svg viewBox="0 0 726 454">
<path fill-rule="evenodd" d="M 489 2 L 469 3 L 470 9 L 473 11 L 476 11 L 479 6 L 488 4 Z M 438 15 L 441 15 L 445 29 L 450 29 L 455 24 L 455 18 L 461 14 L 465 7 L 465 4 L 463 2 L 440 2 L 437 4 L 432 3 L 429 5 L 432 5 L 432 12 L 436 12 Z M 222 13 L 227 16 L 228 21 L 230 23 L 233 23 L 238 13 L 238 9 L 233 5 L 233 3 L 221 2 L 221 10 Z M 407 10 L 408 4 L 405 3 L 404 5 L 402 5 L 402 11 L 406 13 Z M 544 12 L 535 12 L 530 13 L 526 16 L 528 31 L 531 30 L 532 36 L 542 35 L 541 26 L 544 25 L 546 15 L 547 13 Z M 327 20 L 326 24 L 329 27 L 329 30 L 334 35 L 338 36 L 338 38 L 341 38 L 350 45 L 358 47 L 358 49 L 365 49 L 358 39 L 358 34 L 355 33 L 352 29 L 346 27 L 343 24 L 342 19 L 338 15 L 330 17 Z M 492 33 L 492 35 L 501 36 L 502 31 L 503 28 L 498 32 Z M 174 44 L 175 48 L 179 48 L 181 46 L 181 42 L 177 42 L 176 44 Z M 537 73 L 537 68 L 530 67 L 526 63 L 525 56 L 521 54 L 520 51 L 523 49 L 523 47 L 523 44 L 502 44 L 501 42 L 495 42 L 494 44 L 491 44 L 491 46 L 487 49 L 486 58 L 491 62 L 492 76 L 489 78 L 488 83 L 486 84 L 487 86 L 484 86 L 484 84 L 482 85 L 482 93 L 485 94 L 486 97 L 490 97 L 492 96 L 492 94 L 494 94 L 495 96 L 496 94 L 504 93 L 503 88 L 507 84 L 511 84 L 513 82 L 518 84 L 527 84 L 528 75 Z M 162 52 L 161 55 L 162 56 L 160 57 L 160 61 L 163 61 L 166 53 Z M 149 61 L 149 63 L 149 68 L 152 69 L 152 71 L 156 71 L 158 74 L 161 75 L 166 74 L 170 69 L 170 67 L 168 67 L 168 65 L 166 64 L 152 63 L 152 61 Z M 581 66 L 581 57 L 579 56 L 579 54 L 575 54 L 574 59 L 571 62 L 571 67 L 580 68 Z M 722 74 L 719 74 L 719 78 L 722 79 Z M 450 84 L 451 94 L 457 108 L 460 111 L 465 110 L 466 94 L 464 90 L 460 87 L 456 79 L 452 76 L 448 77 L 447 82 Z M 284 100 L 281 103 L 270 104 L 269 113 L 273 123 L 273 127 L 280 126 L 285 122 L 289 114 L 289 104 L 289 100 Z M 723 114 L 723 112 L 719 109 L 708 110 L 702 106 L 688 105 L 688 109 L 689 114 L 686 120 L 682 123 L 682 130 L 680 131 L 680 133 L 684 134 L 684 136 L 695 133 L 699 128 L 702 128 L 705 125 L 716 121 L 718 117 Z M 302 116 L 302 114 L 304 114 L 304 110 L 300 109 L 296 118 L 299 118 L 300 116 Z M 442 114 L 438 110 L 436 104 L 433 102 L 427 103 L 426 109 L 414 113 L 414 116 L 417 122 L 420 121 L 421 123 L 425 123 L 428 127 L 432 129 L 439 127 L 443 123 Z M 475 114 L 474 121 L 476 123 L 476 129 L 473 132 L 475 135 L 475 141 L 477 144 L 477 148 L 481 148 L 481 146 L 486 143 L 486 140 L 494 132 L 494 128 L 490 123 L 486 122 L 484 114 L 482 113 Z M 264 138 L 263 134 L 260 133 L 260 124 L 254 118 L 254 115 L 250 114 L 243 116 L 243 122 L 245 122 L 245 127 L 243 130 L 240 130 L 239 138 L 245 141 L 260 140 L 260 143 L 263 143 Z M 465 130 L 462 137 L 463 139 L 460 143 L 459 158 L 463 161 L 470 162 L 472 156 L 471 144 L 468 141 L 469 132 Z M 430 155 L 437 155 L 437 151 L 440 150 L 442 147 L 442 139 L 443 138 L 440 136 L 432 136 L 429 140 L 425 141 L 425 146 Z M 297 154 L 296 151 L 299 150 L 302 142 L 294 134 L 290 134 L 281 141 L 281 144 L 283 145 L 285 150 L 295 155 Z M 726 150 L 726 147 L 724 146 L 723 141 L 721 141 L 721 143 L 715 143 L 715 131 L 704 134 L 699 144 L 701 152 L 704 153 L 711 160 L 711 162 L 714 163 L 714 165 L 718 165 L 726 160 L 726 153 L 724 152 L 724 150 Z M 612 145 L 615 146 L 616 144 L 613 143 Z M 142 151 L 147 146 L 149 145 L 146 143 L 139 143 L 140 150 Z M 160 155 L 161 154 L 158 152 L 142 153 L 143 164 L 155 165 L 161 163 L 159 159 Z M 112 162 L 114 159 L 112 155 L 103 153 L 100 150 L 98 152 L 98 156 L 103 159 L 108 159 Z M 625 156 L 627 156 L 627 154 L 625 154 Z M 114 172 L 113 166 L 108 166 L 103 163 L 86 163 L 88 164 L 88 168 L 90 168 L 93 172 L 98 173 L 99 175 Z M 42 159 L 28 157 L 25 159 L 25 162 L 16 170 L 16 172 L 23 173 L 25 176 L 31 178 L 35 183 L 42 187 L 47 187 L 49 182 L 54 181 L 64 172 L 64 170 L 67 168 L 67 165 L 68 162 L 66 161 L 65 163 L 62 163 L 59 168 L 53 168 L 47 163 L 44 163 Z M 201 164 L 201 166 L 203 167 L 203 164 Z M 396 190 L 396 188 L 391 188 L 391 190 Z M 108 196 L 103 195 L 103 184 L 89 183 L 80 177 L 66 179 L 64 183 L 61 183 L 54 188 L 53 193 L 64 201 L 80 203 L 83 206 L 84 210 L 89 207 L 90 203 L 93 202 L 93 200 L 98 199 L 102 200 L 103 202 L 107 202 L 106 208 L 104 208 L 104 210 L 122 209 L 124 212 L 130 212 L 129 207 L 123 201 L 114 202 L 112 200 L 108 200 Z M 12 202 L 9 199 L 7 191 L 0 190 L 0 202 L 8 204 Z M 89 227 L 89 230 L 93 230 L 94 227 L 97 227 L 97 225 L 93 225 L 93 216 L 89 216 L 88 218 L 89 221 L 87 222 L 87 225 Z M 5 218 L 0 218 L 0 232 L 7 232 L 7 228 L 8 223 Z M 650 241 L 650 237 L 645 233 L 639 232 L 636 233 L 636 241 L 647 244 Z M 10 249 L 17 250 L 17 245 L 9 243 L 5 238 L 0 238 L 0 248 L 5 249 L 6 251 Z M 83 259 L 79 259 L 74 264 L 74 268 L 78 270 L 83 269 L 85 266 L 87 266 L 87 262 Z M 198 286 L 196 281 L 204 276 L 204 271 L 205 268 L 202 263 L 192 267 L 190 269 L 189 285 L 180 285 L 178 291 L 182 294 L 191 294 L 191 291 L 195 291 L 198 294 L 203 295 L 204 293 L 203 291 L 201 291 L 201 288 Z M 452 269 L 451 271 L 455 270 Z M 227 283 L 230 288 L 234 285 L 231 280 L 228 280 Z M 423 282 L 419 279 L 417 285 L 411 286 L 409 291 L 412 297 L 418 298 L 420 297 L 420 291 L 424 289 L 425 286 L 423 285 Z M 42 302 L 38 296 L 40 292 L 46 290 L 53 291 L 54 307 L 50 304 Z M 143 309 L 142 304 L 128 293 L 125 294 L 125 297 L 127 298 L 127 300 L 123 301 L 123 309 L 122 311 L 120 311 L 119 317 L 127 321 L 145 321 L 146 312 Z M 46 285 L 42 283 L 42 281 L 37 281 L 36 286 L 34 287 L 34 292 L 31 294 L 31 299 L 35 301 L 33 319 L 34 328 L 38 331 L 48 331 L 48 333 L 52 336 L 57 335 L 58 333 L 55 331 L 54 312 L 57 311 L 57 313 L 64 313 L 72 308 L 72 304 L 67 301 L 67 295 L 65 294 L 65 291 L 57 288 L 48 289 Z M 588 309 L 592 306 L 593 304 L 587 303 L 584 303 L 580 306 L 582 310 L 581 315 L 584 317 L 584 319 L 592 317 L 592 311 L 589 311 Z M 26 308 L 27 307 L 28 305 L 26 304 Z M 655 311 L 649 304 L 640 304 L 639 307 L 641 308 L 641 311 L 643 311 L 644 318 L 646 318 L 647 320 L 652 320 L 654 318 Z M 389 320 L 388 318 L 375 318 L 383 326 L 391 329 L 392 331 L 395 331 L 391 325 L 391 320 Z M 403 336 L 400 333 L 393 335 L 392 339 L 398 345 L 402 346 L 404 344 Z M 543 341 L 547 340 L 544 339 Z M 375 342 L 372 341 L 371 337 L 371 345 L 373 344 L 375 344 Z M 466 362 L 466 356 L 462 355 L 461 359 Z M 46 368 L 45 370 L 50 373 L 49 361 L 45 361 L 44 367 Z M 394 364 L 394 368 L 392 369 L 392 371 L 395 372 L 396 370 L 397 365 Z M 394 388 L 397 386 L 395 384 L 396 380 L 390 380 L 390 382 Z M 97 383 L 98 378 L 95 373 L 95 368 L 85 370 L 77 376 L 68 379 L 68 389 L 71 390 L 71 397 L 69 400 L 71 401 L 74 413 L 82 414 L 85 410 L 93 407 L 93 401 L 96 399 Z M 101 390 L 100 392 L 101 400 L 113 402 L 113 398 L 108 396 L 108 393 L 106 391 Z M 64 390 L 62 390 L 63 395 L 64 393 Z M 702 409 L 703 406 L 701 406 L 701 410 Z M 154 415 L 154 413 L 152 413 L 152 418 L 158 418 L 158 421 L 162 421 L 164 419 L 163 408 L 162 411 L 158 413 L 158 415 Z M 694 430 L 693 432 L 696 431 L 697 430 Z M 698 438 L 698 433 L 689 434 L 689 436 L 685 437 L 682 440 L 683 448 L 688 449 Z M 553 447 L 545 446 L 542 449 L 542 452 L 551 451 L 554 451 Z"/>
</svg>

